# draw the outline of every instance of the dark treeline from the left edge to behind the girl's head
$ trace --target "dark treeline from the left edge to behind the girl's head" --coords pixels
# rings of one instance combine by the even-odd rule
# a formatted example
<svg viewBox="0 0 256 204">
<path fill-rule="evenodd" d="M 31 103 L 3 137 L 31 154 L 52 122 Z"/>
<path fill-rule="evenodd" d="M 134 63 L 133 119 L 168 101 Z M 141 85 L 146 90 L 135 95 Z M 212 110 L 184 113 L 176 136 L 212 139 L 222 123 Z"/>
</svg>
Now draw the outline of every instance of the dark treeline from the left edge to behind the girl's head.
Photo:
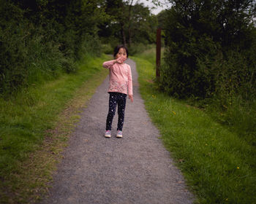
<svg viewBox="0 0 256 204">
<path fill-rule="evenodd" d="M 112 52 L 118 43 L 154 42 L 157 18 L 135 1 L 0 1 L 1 95 L 76 71 L 102 43 Z"/>
</svg>

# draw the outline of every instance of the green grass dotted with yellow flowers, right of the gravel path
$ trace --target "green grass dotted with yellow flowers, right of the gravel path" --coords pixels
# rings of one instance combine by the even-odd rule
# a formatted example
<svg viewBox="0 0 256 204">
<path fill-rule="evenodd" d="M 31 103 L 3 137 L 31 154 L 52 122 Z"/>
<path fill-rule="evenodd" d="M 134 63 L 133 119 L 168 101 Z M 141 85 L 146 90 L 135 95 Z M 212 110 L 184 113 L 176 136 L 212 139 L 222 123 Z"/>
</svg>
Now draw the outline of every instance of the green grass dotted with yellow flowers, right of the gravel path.
<svg viewBox="0 0 256 204">
<path fill-rule="evenodd" d="M 147 58 L 132 58 L 140 93 L 163 144 L 194 192 L 195 203 L 256 203 L 255 146 L 206 111 L 161 93 L 154 84 L 154 63 Z"/>
</svg>

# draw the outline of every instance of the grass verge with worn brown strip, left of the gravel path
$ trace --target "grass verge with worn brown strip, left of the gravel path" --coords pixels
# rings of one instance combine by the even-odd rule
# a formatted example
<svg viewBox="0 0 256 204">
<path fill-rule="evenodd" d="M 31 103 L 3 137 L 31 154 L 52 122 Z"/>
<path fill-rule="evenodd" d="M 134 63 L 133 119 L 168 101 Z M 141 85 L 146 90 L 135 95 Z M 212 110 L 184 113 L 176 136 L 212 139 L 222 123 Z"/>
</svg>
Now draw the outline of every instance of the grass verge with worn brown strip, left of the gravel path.
<svg viewBox="0 0 256 204">
<path fill-rule="evenodd" d="M 0 99 L 0 203 L 34 203 L 48 190 L 81 109 L 108 75 L 86 58 L 76 74 Z"/>
</svg>

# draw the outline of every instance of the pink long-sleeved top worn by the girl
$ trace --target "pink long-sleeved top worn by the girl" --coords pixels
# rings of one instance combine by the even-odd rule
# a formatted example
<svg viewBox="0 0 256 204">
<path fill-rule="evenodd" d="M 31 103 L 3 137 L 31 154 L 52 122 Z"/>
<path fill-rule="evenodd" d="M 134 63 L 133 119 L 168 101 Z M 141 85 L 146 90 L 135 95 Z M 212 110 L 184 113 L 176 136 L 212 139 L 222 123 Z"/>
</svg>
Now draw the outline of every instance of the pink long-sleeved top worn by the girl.
<svg viewBox="0 0 256 204">
<path fill-rule="evenodd" d="M 109 88 L 108 92 L 118 92 L 132 95 L 132 71 L 127 63 L 115 63 L 110 60 L 103 63 L 103 67 L 109 69 Z"/>
</svg>

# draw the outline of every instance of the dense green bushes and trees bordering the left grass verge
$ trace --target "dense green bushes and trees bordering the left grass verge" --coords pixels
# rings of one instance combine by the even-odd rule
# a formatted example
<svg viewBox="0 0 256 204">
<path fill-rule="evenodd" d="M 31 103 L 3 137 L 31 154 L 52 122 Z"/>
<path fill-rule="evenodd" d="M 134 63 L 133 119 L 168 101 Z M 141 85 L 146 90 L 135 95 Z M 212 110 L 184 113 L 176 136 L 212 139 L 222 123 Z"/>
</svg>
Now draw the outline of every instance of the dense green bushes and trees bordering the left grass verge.
<svg viewBox="0 0 256 204">
<path fill-rule="evenodd" d="M 78 70 L 83 55 L 99 56 L 102 1 L 1 0 L 0 94 L 10 95 Z"/>
</svg>

